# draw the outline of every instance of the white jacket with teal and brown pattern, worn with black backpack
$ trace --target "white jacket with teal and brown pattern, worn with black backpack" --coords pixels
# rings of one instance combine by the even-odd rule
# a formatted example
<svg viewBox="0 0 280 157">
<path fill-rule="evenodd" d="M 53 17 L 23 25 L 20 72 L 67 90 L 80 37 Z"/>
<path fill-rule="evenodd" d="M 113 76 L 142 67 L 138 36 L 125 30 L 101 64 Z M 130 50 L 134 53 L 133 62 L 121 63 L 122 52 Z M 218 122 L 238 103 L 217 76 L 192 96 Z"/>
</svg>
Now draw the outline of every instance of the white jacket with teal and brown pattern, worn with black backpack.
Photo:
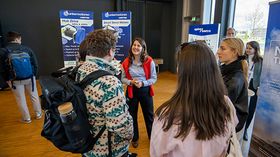
<svg viewBox="0 0 280 157">
<path fill-rule="evenodd" d="M 84 89 L 87 97 L 89 122 L 93 135 L 106 125 L 106 130 L 96 142 L 94 148 L 84 153 L 86 157 L 106 157 L 108 149 L 108 131 L 111 132 L 112 156 L 119 157 L 128 151 L 133 136 L 133 121 L 128 112 L 122 83 L 113 76 L 119 72 L 118 67 L 104 59 L 87 56 L 86 62 L 79 68 L 78 81 L 96 70 L 106 70 L 112 75 L 94 80 Z"/>
</svg>

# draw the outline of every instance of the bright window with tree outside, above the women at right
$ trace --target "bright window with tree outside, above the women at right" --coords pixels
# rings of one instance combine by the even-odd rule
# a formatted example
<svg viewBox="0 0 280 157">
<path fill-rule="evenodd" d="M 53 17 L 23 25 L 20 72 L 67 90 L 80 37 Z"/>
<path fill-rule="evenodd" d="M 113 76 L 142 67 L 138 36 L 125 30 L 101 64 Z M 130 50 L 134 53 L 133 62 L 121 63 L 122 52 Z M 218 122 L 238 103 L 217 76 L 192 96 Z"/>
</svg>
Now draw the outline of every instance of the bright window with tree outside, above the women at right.
<svg viewBox="0 0 280 157">
<path fill-rule="evenodd" d="M 236 37 L 246 44 L 255 40 L 264 53 L 269 2 L 273 0 L 236 0 L 234 28 Z"/>
</svg>

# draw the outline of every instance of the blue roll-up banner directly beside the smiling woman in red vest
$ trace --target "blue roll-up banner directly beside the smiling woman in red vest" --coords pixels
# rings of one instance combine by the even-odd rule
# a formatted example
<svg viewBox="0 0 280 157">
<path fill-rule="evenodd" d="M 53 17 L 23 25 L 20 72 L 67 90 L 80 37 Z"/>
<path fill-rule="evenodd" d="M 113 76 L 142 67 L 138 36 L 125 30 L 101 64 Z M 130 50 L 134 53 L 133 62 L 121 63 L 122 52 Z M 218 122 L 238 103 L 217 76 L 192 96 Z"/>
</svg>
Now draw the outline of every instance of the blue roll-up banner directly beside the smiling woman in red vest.
<svg viewBox="0 0 280 157">
<path fill-rule="evenodd" d="M 131 12 L 103 12 L 102 27 L 118 32 L 115 58 L 123 61 L 131 44 Z"/>
</svg>

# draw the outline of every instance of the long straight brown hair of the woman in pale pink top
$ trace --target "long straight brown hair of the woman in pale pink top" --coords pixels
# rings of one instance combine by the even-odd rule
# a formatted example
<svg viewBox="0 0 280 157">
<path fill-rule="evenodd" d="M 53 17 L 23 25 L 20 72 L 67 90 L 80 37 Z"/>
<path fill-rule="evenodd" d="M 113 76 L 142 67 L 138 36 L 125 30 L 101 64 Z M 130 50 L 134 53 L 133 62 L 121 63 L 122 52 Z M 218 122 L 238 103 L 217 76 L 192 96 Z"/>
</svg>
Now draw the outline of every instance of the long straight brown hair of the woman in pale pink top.
<svg viewBox="0 0 280 157">
<path fill-rule="evenodd" d="M 192 126 L 196 139 L 225 135 L 230 107 L 215 56 L 203 43 L 183 44 L 178 57 L 178 84 L 174 95 L 157 110 L 163 130 L 178 125 L 175 138 L 185 139 Z"/>
</svg>

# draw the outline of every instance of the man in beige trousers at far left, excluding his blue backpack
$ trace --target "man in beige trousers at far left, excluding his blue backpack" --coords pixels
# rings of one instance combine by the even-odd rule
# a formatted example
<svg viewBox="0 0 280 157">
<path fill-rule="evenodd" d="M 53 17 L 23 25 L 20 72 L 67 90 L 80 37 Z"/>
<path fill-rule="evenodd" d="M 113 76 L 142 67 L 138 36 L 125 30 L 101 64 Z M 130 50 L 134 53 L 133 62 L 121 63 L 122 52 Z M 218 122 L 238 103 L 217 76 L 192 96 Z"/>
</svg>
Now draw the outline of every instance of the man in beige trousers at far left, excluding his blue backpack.
<svg viewBox="0 0 280 157">
<path fill-rule="evenodd" d="M 16 103 L 18 105 L 19 111 L 22 116 L 20 121 L 23 123 L 31 123 L 31 116 L 26 103 L 25 90 L 30 96 L 32 106 L 35 112 L 35 119 L 40 119 L 42 117 L 42 110 L 41 110 L 41 105 L 37 92 L 36 78 L 35 78 L 38 70 L 38 62 L 31 48 L 21 44 L 21 39 L 22 36 L 20 33 L 14 31 L 8 32 L 7 33 L 8 44 L 5 50 L 7 56 L 9 53 L 18 53 L 18 54 L 21 52 L 27 53 L 30 57 L 33 76 L 31 76 L 31 78 L 23 79 L 23 80 L 12 80 L 12 81 L 7 80 L 7 81 L 16 98 Z M 8 65 L 6 67 L 8 67 Z M 6 69 L 7 73 L 9 73 L 8 71 L 10 70 L 11 69 Z"/>
</svg>

